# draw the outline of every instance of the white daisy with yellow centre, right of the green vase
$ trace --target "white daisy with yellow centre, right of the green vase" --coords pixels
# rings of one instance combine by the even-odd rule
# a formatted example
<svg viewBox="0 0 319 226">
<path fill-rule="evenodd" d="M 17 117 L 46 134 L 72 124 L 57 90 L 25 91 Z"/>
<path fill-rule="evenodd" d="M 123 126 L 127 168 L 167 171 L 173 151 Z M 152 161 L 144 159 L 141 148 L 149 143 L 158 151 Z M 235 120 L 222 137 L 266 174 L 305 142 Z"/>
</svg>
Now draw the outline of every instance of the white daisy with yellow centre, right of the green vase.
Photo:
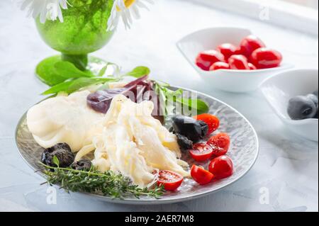
<svg viewBox="0 0 319 226">
<path fill-rule="evenodd" d="M 130 28 L 133 18 L 139 19 L 139 8 L 147 9 L 145 3 L 154 4 L 152 0 L 114 0 L 111 16 L 108 18 L 108 30 L 113 30 L 122 18 L 126 29 Z"/>
</svg>

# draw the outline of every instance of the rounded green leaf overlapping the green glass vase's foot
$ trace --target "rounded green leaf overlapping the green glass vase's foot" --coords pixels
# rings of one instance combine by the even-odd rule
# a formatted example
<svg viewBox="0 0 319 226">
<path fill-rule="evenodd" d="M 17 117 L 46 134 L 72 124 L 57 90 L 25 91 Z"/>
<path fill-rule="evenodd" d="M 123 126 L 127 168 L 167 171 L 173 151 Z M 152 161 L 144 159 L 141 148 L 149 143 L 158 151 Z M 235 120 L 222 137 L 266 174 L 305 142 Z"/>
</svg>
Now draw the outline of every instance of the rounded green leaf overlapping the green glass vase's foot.
<svg viewBox="0 0 319 226">
<path fill-rule="evenodd" d="M 60 61 L 55 63 L 55 72 L 66 79 L 77 79 L 82 77 L 94 77 L 91 72 L 82 72 L 71 62 Z"/>
</svg>

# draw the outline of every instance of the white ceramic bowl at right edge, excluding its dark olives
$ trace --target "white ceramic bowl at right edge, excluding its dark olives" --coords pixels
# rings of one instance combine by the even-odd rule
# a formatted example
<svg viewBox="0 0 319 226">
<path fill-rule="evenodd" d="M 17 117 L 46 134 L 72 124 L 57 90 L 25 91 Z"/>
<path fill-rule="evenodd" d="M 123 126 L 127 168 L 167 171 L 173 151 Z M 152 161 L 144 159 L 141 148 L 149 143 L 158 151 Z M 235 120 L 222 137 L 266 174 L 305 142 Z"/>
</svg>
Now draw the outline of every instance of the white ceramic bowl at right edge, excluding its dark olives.
<svg viewBox="0 0 319 226">
<path fill-rule="evenodd" d="M 318 69 L 296 69 L 276 74 L 264 81 L 262 93 L 291 131 L 318 142 L 318 119 L 291 120 L 287 113 L 290 98 L 318 90 Z"/>
</svg>

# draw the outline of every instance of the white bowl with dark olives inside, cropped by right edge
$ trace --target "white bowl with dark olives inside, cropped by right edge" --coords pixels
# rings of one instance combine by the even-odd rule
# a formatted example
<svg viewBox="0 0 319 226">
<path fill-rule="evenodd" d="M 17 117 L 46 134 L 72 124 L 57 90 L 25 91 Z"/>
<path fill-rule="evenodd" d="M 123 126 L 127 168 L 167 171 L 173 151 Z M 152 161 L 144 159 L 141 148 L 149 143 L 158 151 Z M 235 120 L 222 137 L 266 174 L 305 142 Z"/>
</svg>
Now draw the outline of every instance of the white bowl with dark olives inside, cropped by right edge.
<svg viewBox="0 0 319 226">
<path fill-rule="evenodd" d="M 294 69 L 264 81 L 262 93 L 284 125 L 318 142 L 318 69 Z"/>
</svg>

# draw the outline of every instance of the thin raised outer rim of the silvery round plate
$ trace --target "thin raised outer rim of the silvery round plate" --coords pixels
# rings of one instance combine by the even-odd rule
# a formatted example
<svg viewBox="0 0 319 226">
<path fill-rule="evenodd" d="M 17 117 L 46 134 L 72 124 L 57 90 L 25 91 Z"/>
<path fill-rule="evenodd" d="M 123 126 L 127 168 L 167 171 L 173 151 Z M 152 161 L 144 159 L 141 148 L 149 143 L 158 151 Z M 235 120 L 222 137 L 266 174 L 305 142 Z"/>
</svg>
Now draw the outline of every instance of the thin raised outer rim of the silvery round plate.
<svg viewBox="0 0 319 226">
<path fill-rule="evenodd" d="M 138 198 L 127 198 L 127 199 L 113 199 L 113 198 L 110 198 L 108 196 L 101 196 L 101 195 L 98 195 L 98 194 L 94 194 L 94 193 L 87 193 L 87 192 L 82 192 L 82 191 L 77 191 L 77 192 L 72 192 L 74 194 L 82 194 L 82 195 L 85 195 L 85 196 L 89 196 L 91 198 L 95 198 L 97 200 L 102 200 L 104 202 L 107 202 L 107 203 L 116 203 L 116 204 L 125 204 L 125 205 L 162 205 L 162 204 L 172 204 L 172 203 L 181 203 L 181 202 L 185 202 L 185 201 L 189 201 L 189 200 L 194 200 L 194 199 L 197 199 L 197 198 L 202 198 L 204 196 L 209 196 L 211 195 L 212 193 L 216 193 L 220 190 L 222 190 L 223 188 L 227 187 L 227 186 L 230 186 L 232 185 L 233 183 L 236 183 L 237 181 L 239 181 L 240 179 L 242 179 L 242 177 L 244 177 L 251 169 L 252 167 L 254 166 L 254 164 L 256 164 L 257 162 L 257 159 L 259 157 L 259 137 L 258 137 L 258 134 L 256 132 L 256 130 L 254 129 L 254 126 L 252 125 L 252 123 L 250 123 L 249 120 L 247 120 L 247 118 L 242 115 L 242 113 L 240 113 L 240 111 L 237 111 L 236 108 L 233 108 L 232 106 L 228 105 L 228 103 L 225 103 L 223 101 L 220 101 L 218 98 L 215 98 L 213 96 L 210 96 L 208 94 L 203 94 L 201 91 L 195 91 L 193 89 L 187 89 L 187 88 L 184 88 L 184 87 L 181 87 L 181 86 L 170 86 L 172 88 L 176 88 L 176 89 L 183 89 L 184 91 L 191 91 L 191 92 L 194 92 L 194 93 L 197 93 L 197 94 L 200 94 L 201 96 L 205 96 L 206 98 L 211 98 L 213 99 L 214 101 L 218 101 L 220 103 L 222 103 L 223 105 L 227 106 L 228 108 L 232 109 L 233 111 L 235 111 L 235 113 L 237 113 L 238 115 L 240 115 L 240 117 L 242 117 L 246 123 L 248 123 L 248 125 L 250 125 L 250 128 L 252 128 L 252 132 L 254 133 L 254 137 L 256 139 L 256 152 L 254 154 L 254 159 L 252 161 L 252 164 L 245 170 L 242 172 L 242 174 L 240 174 L 239 176 L 237 176 L 237 179 L 234 179 L 233 181 L 230 181 L 228 183 L 225 183 L 223 186 L 220 186 L 219 188 L 216 188 L 216 190 L 213 190 L 213 191 L 204 191 L 204 192 L 201 192 L 201 193 L 198 193 L 198 194 L 194 194 L 192 196 L 186 196 L 186 197 L 182 197 L 182 198 L 166 198 L 166 199 L 150 199 L 150 200 L 141 200 L 141 199 L 138 199 Z M 43 99 L 44 101 L 45 99 Z M 41 101 L 40 101 L 41 102 Z M 39 102 L 39 103 L 40 103 Z M 36 104 L 36 103 L 35 103 Z M 28 112 L 28 111 L 27 111 Z M 20 148 L 18 147 L 18 141 L 17 141 L 17 137 L 18 137 L 18 126 L 21 125 L 22 123 L 22 120 L 23 118 L 25 118 L 26 116 L 26 113 L 24 113 L 20 120 L 18 120 L 18 124 L 16 125 L 16 131 L 15 131 L 15 141 L 16 141 L 16 147 L 18 149 L 18 154 L 20 155 L 20 157 L 23 159 L 24 162 L 26 162 L 26 164 L 35 171 L 35 173 L 37 173 L 38 175 L 40 175 L 41 177 L 44 177 L 44 174 L 41 173 L 38 169 L 35 169 L 33 166 L 31 166 L 31 164 L 23 157 L 22 153 L 21 153 L 21 150 Z M 60 188 L 59 186 L 57 185 L 53 185 L 55 187 L 58 187 Z"/>
</svg>

